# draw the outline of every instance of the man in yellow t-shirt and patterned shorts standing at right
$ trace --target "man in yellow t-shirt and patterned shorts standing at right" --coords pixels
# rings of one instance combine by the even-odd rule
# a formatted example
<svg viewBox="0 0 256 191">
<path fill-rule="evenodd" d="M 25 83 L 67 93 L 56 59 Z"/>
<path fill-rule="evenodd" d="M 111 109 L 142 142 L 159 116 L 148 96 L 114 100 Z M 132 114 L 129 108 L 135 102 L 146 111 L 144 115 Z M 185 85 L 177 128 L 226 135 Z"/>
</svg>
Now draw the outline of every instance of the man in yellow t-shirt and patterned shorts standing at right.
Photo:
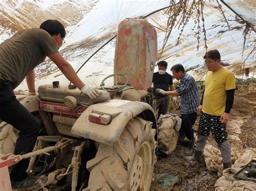
<svg viewBox="0 0 256 191">
<path fill-rule="evenodd" d="M 197 109 L 200 115 L 196 151 L 187 160 L 201 161 L 207 138 L 212 132 L 218 143 L 223 159 L 223 168 L 231 167 L 231 146 L 227 140 L 226 123 L 234 102 L 235 77 L 230 70 L 220 65 L 217 49 L 204 56 L 208 73 L 205 78 L 205 91 Z"/>
</svg>

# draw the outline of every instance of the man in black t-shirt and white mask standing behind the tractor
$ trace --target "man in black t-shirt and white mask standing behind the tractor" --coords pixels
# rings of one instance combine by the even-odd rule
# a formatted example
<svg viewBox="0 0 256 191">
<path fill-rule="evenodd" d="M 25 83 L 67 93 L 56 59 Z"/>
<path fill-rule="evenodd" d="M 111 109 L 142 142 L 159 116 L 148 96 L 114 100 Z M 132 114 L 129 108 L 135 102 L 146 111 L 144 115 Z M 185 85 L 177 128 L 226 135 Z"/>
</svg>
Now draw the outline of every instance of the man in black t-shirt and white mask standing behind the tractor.
<svg viewBox="0 0 256 191">
<path fill-rule="evenodd" d="M 156 93 L 156 89 L 169 91 L 170 87 L 171 91 L 175 90 L 172 82 L 172 76 L 166 72 L 167 65 L 166 61 L 158 62 L 158 72 L 153 74 L 153 97 L 157 102 L 157 119 L 161 114 L 165 115 L 168 111 L 170 98 L 167 95 Z"/>
</svg>

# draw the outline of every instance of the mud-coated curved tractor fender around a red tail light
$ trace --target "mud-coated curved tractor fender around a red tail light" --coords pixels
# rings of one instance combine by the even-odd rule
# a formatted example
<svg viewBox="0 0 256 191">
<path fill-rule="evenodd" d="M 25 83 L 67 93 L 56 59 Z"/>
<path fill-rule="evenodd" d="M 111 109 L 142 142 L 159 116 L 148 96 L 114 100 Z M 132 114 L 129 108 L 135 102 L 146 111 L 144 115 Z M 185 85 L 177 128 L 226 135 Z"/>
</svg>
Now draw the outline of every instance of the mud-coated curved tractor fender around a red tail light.
<svg viewBox="0 0 256 191">
<path fill-rule="evenodd" d="M 97 103 L 91 105 L 82 115 L 80 115 L 72 126 L 71 132 L 80 137 L 113 146 L 117 143 L 130 119 L 144 111 L 147 111 L 148 114 L 151 113 L 151 115 L 154 116 L 154 111 L 151 106 L 144 102 L 110 100 L 103 103 Z M 92 112 L 111 116 L 111 122 L 104 125 L 89 121 L 89 115 Z M 154 120 L 156 119 L 154 118 Z M 156 121 L 154 122 L 156 123 Z"/>
</svg>

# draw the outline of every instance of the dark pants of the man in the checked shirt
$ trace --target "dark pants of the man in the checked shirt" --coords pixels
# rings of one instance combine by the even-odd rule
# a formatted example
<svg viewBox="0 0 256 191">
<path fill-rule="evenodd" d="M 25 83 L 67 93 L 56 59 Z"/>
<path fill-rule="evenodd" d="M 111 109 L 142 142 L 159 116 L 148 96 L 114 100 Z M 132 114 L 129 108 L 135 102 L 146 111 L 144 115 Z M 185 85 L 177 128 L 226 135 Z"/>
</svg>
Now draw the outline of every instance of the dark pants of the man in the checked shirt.
<svg viewBox="0 0 256 191">
<path fill-rule="evenodd" d="M 181 114 L 181 127 L 179 135 L 185 135 L 189 140 L 194 139 L 193 125 L 197 120 L 197 112 L 192 114 Z"/>
</svg>

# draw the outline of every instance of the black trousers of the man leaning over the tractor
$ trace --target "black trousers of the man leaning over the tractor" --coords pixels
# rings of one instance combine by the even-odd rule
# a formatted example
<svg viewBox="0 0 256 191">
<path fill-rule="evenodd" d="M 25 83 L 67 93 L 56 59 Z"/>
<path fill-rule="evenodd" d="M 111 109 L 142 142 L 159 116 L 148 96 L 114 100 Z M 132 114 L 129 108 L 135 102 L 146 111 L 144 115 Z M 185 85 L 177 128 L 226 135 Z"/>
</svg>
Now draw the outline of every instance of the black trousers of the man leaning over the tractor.
<svg viewBox="0 0 256 191">
<path fill-rule="evenodd" d="M 16 99 L 11 83 L 0 79 L 0 119 L 19 130 L 14 154 L 25 154 L 33 150 L 41 124 Z M 20 161 L 11 169 L 11 181 L 20 181 L 28 175 L 29 159 Z"/>
</svg>

